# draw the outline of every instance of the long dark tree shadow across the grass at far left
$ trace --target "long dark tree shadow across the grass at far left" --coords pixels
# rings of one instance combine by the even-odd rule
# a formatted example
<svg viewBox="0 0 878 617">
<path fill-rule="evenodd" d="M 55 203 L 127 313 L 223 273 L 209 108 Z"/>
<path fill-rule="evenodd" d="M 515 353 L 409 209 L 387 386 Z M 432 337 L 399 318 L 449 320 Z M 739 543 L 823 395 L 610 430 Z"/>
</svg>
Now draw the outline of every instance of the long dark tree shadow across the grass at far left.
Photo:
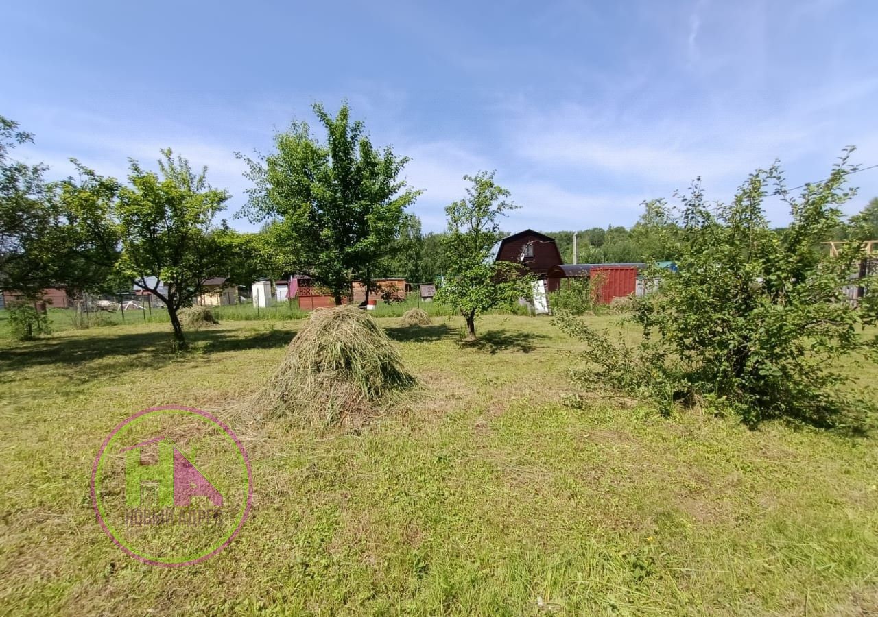
<svg viewBox="0 0 878 617">
<path fill-rule="evenodd" d="M 0 383 L 14 371 L 52 367 L 78 379 L 118 376 L 129 370 L 155 369 L 191 355 L 212 355 L 243 349 L 279 348 L 290 342 L 289 330 L 253 331 L 211 327 L 186 333 L 191 353 L 174 352 L 169 332 L 40 339 L 0 350 Z M 101 360 L 111 362 L 100 362 Z"/>
</svg>

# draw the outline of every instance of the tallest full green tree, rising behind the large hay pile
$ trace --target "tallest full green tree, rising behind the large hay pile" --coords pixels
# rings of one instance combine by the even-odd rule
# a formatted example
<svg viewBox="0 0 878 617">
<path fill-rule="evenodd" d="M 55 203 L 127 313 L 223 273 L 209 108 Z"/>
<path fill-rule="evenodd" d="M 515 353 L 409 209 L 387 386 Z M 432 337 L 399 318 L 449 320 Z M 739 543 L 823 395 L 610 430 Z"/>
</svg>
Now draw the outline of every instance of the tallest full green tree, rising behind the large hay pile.
<svg viewBox="0 0 878 617">
<path fill-rule="evenodd" d="M 275 247 L 284 269 L 312 276 L 341 304 L 350 284 L 367 285 L 396 246 L 409 204 L 420 191 L 399 174 L 408 159 L 391 147 L 372 147 L 347 104 L 333 118 L 321 104 L 313 112 L 327 133 L 321 143 L 304 122 L 275 136 L 276 151 L 253 160 L 255 183 L 243 214 L 251 221 L 277 219 Z"/>
</svg>

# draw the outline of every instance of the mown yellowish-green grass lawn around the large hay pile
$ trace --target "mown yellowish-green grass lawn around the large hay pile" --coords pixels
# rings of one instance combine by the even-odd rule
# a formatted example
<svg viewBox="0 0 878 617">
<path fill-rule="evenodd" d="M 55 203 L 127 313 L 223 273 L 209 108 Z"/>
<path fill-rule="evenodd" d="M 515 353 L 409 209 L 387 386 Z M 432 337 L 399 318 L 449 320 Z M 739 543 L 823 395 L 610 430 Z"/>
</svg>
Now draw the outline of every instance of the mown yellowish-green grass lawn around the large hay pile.
<svg viewBox="0 0 878 617">
<path fill-rule="evenodd" d="M 475 347 L 459 319 L 379 321 L 420 386 L 324 433 L 242 404 L 301 320 L 224 321 L 182 356 L 167 324 L 2 341 L 0 613 L 878 612 L 874 437 L 609 398 L 573 410 L 577 344 L 550 319 L 486 317 Z M 123 554 L 90 505 L 104 437 L 163 404 L 225 420 L 255 481 L 234 542 L 176 569 Z"/>
</svg>

